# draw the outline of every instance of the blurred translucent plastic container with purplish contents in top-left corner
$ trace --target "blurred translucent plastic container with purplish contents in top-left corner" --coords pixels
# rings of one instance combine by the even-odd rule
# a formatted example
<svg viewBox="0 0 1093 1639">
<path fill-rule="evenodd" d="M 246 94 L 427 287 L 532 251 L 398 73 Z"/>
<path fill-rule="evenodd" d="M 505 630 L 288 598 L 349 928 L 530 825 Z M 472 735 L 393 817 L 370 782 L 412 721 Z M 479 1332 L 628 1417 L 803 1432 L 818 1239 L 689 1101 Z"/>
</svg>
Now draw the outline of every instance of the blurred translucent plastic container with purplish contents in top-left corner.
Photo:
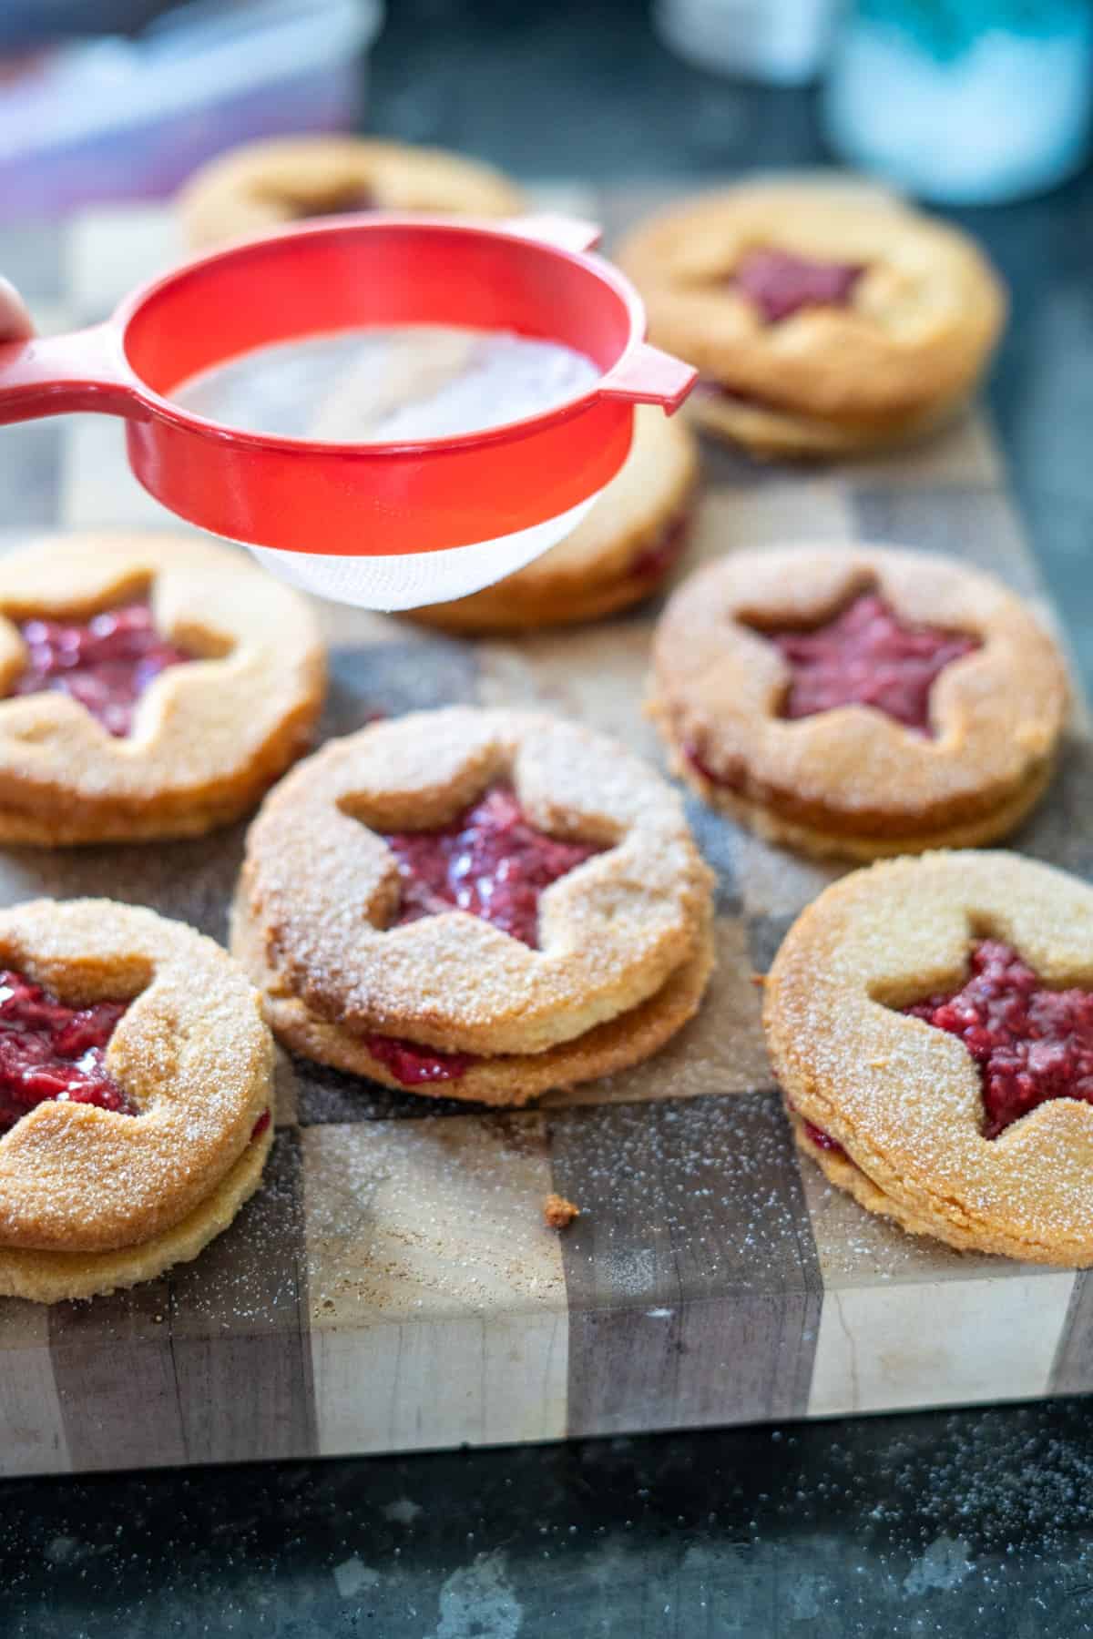
<svg viewBox="0 0 1093 1639">
<path fill-rule="evenodd" d="M 0 220 L 174 192 L 234 143 L 361 118 L 382 0 L 198 0 L 0 82 Z"/>
</svg>

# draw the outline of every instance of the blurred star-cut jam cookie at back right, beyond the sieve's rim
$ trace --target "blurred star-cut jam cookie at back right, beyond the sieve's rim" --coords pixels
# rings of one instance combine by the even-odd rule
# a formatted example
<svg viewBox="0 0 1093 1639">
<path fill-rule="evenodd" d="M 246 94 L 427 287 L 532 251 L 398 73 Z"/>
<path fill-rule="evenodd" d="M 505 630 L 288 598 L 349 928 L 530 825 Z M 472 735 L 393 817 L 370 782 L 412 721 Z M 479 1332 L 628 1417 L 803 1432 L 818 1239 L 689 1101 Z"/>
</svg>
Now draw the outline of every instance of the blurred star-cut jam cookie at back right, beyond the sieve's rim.
<svg viewBox="0 0 1093 1639">
<path fill-rule="evenodd" d="M 975 390 L 1006 313 L 965 234 L 823 184 L 683 202 L 618 259 L 652 339 L 701 372 L 692 413 L 757 454 L 854 454 L 929 431 Z"/>
</svg>

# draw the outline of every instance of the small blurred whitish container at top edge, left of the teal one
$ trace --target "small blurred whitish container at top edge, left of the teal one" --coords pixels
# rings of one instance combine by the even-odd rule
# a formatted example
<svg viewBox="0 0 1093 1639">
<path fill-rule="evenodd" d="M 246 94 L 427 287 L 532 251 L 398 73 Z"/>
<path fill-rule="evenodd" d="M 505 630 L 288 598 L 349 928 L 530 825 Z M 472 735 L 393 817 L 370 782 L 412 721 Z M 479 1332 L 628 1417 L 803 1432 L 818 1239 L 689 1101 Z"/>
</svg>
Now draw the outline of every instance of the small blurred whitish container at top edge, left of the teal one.
<svg viewBox="0 0 1093 1639">
<path fill-rule="evenodd" d="M 654 0 L 677 56 L 713 74 L 805 85 L 819 74 L 836 0 Z"/>
</svg>

